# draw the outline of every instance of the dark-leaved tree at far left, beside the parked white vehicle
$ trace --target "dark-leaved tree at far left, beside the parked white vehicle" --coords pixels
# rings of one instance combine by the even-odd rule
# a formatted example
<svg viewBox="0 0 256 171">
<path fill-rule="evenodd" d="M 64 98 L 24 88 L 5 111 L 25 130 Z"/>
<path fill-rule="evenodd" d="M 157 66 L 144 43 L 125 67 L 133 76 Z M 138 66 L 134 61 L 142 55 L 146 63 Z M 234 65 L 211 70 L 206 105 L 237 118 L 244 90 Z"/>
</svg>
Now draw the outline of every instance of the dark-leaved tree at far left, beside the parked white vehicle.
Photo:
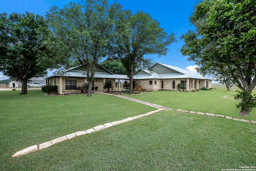
<svg viewBox="0 0 256 171">
<path fill-rule="evenodd" d="M 29 79 L 44 77 L 53 68 L 51 47 L 44 44 L 50 34 L 42 16 L 0 14 L 0 71 L 22 82 L 20 94 L 27 94 Z"/>
</svg>

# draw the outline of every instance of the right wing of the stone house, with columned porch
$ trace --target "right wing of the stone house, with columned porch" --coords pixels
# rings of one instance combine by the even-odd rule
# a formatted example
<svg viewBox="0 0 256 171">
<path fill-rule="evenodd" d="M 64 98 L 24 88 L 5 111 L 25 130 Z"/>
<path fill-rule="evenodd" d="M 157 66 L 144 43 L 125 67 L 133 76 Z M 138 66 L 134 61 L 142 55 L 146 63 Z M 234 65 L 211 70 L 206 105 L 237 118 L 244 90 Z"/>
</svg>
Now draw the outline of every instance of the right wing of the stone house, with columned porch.
<svg viewBox="0 0 256 171">
<path fill-rule="evenodd" d="M 212 87 L 212 79 L 175 66 L 156 63 L 150 69 L 152 71 L 139 70 L 134 75 L 133 85 L 138 84 L 148 91 L 178 91 L 178 84 L 182 84 L 185 91 Z"/>
</svg>

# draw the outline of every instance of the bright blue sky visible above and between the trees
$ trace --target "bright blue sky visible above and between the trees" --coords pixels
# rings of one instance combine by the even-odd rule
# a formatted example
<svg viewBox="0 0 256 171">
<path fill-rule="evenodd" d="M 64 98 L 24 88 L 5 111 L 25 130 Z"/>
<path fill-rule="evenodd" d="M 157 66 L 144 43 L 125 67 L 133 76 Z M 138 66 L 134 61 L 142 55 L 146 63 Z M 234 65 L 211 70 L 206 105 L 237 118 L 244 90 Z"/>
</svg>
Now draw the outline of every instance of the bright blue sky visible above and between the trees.
<svg viewBox="0 0 256 171">
<path fill-rule="evenodd" d="M 81 2 L 82 0 L 1 0 L 0 13 L 11 14 L 17 12 L 20 14 L 26 11 L 34 14 L 45 16 L 46 12 L 52 6 L 63 8 L 64 5 L 70 2 Z M 160 22 L 160 27 L 164 28 L 166 32 L 174 33 L 178 42 L 171 44 L 166 56 L 158 58 L 157 55 L 148 56 L 154 62 L 160 62 L 172 66 L 177 66 L 182 69 L 190 70 L 195 65 L 193 61 L 188 61 L 185 56 L 182 56 L 179 49 L 183 42 L 179 39 L 182 34 L 188 30 L 193 30 L 194 27 L 190 25 L 188 17 L 191 16 L 194 6 L 198 0 L 116 0 L 124 9 L 132 10 L 136 13 L 138 10 L 144 11 L 153 19 Z M 108 0 L 109 4 L 114 3 L 115 0 Z M 52 72 L 48 72 L 48 76 Z M 4 77 L 0 72 L 0 79 Z M 3 80 L 3 78 L 2 78 Z"/>
</svg>

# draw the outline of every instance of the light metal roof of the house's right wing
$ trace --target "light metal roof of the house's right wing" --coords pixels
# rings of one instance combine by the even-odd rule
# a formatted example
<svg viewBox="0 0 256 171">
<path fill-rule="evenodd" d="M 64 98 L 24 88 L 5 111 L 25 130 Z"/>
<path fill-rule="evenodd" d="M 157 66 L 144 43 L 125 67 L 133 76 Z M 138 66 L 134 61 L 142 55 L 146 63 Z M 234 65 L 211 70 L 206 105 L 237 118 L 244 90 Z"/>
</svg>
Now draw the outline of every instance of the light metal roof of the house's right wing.
<svg viewBox="0 0 256 171">
<path fill-rule="evenodd" d="M 183 70 L 176 66 L 170 66 L 166 64 L 156 63 L 152 67 L 153 72 L 143 70 L 147 74 L 141 74 L 142 72 L 138 72 L 134 75 L 134 79 L 186 79 L 193 78 L 199 80 L 212 80 L 210 78 L 201 76 L 198 73 Z"/>
</svg>

